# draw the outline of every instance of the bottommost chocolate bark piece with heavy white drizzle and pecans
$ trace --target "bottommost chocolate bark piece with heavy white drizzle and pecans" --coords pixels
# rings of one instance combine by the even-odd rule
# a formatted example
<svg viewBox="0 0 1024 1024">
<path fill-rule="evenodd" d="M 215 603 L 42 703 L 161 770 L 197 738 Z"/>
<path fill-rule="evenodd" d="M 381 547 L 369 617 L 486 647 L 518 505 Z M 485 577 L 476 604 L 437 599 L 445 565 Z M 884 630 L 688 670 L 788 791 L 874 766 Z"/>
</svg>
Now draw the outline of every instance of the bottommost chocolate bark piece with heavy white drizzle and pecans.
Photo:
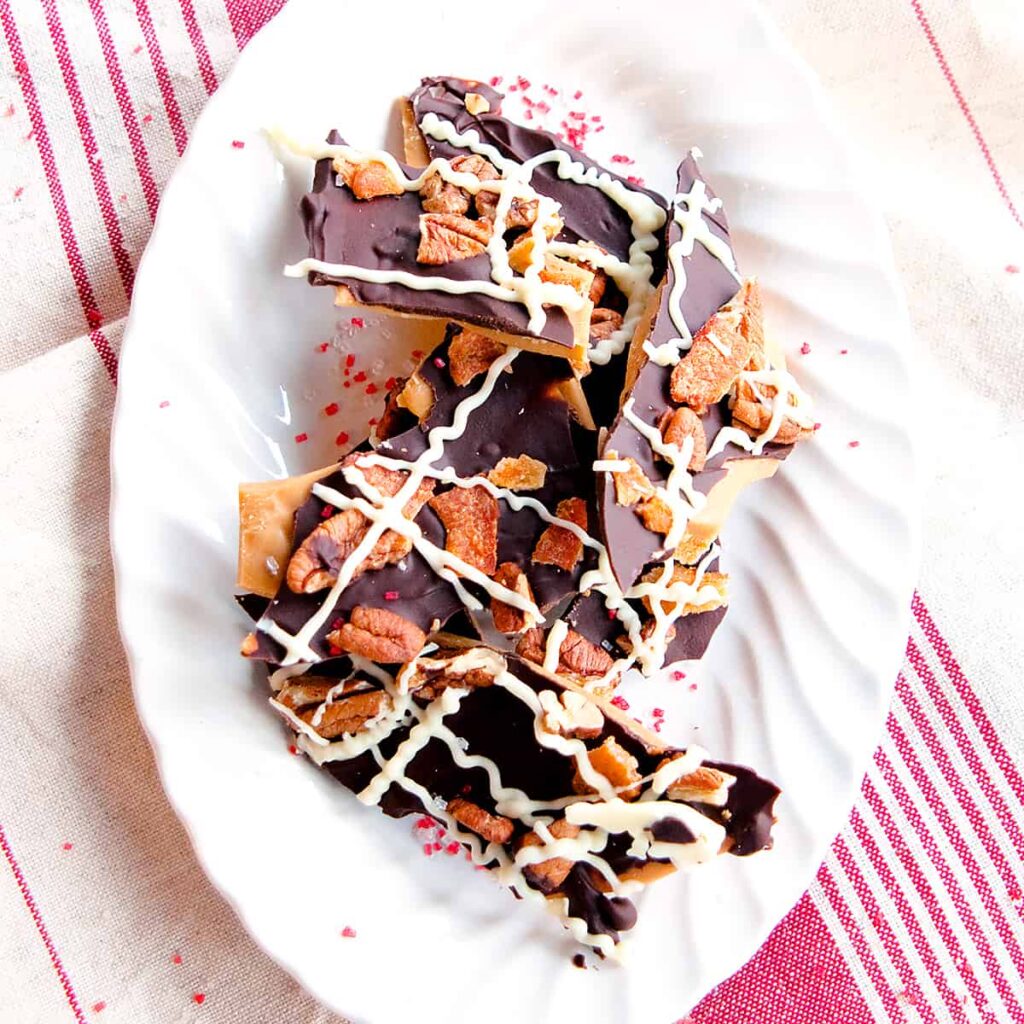
<svg viewBox="0 0 1024 1024">
<path fill-rule="evenodd" d="M 518 895 L 560 901 L 563 922 L 582 922 L 581 941 L 603 954 L 636 922 L 624 883 L 771 846 L 771 782 L 673 748 L 537 666 L 475 646 L 420 657 L 393 677 L 355 677 L 351 714 L 331 707 L 353 699 L 343 686 L 329 712 L 305 706 L 297 716 L 275 701 L 298 746 L 362 803 L 435 818 Z M 325 737 L 331 723 L 357 723 L 364 705 L 385 710 Z M 418 722 L 427 725 L 414 736 Z M 455 751 L 483 761 L 464 767 Z M 391 778 L 383 768 L 394 758 L 404 767 Z M 510 788 L 522 799 L 503 802 Z"/>
</svg>

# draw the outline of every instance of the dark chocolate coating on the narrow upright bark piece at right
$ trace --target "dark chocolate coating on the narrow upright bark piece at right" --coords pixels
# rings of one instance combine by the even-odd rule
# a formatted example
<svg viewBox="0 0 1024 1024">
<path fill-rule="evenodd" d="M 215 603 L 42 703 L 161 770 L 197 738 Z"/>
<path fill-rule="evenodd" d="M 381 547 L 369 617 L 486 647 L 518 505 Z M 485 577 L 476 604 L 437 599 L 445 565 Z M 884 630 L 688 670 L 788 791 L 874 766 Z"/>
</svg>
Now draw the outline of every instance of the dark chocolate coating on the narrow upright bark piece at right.
<svg viewBox="0 0 1024 1024">
<path fill-rule="evenodd" d="M 687 157 L 679 166 L 677 190 L 689 191 L 699 177 L 696 161 L 692 156 Z M 708 195 L 714 197 L 710 186 Z M 718 210 L 705 217 L 712 231 L 728 242 L 729 226 L 724 212 Z M 669 245 L 679 241 L 681 234 L 682 229 L 675 219 L 670 220 Z M 735 278 L 699 242 L 693 246 L 692 254 L 684 257 L 683 266 L 686 270 L 686 288 L 681 302 L 683 317 L 690 332 L 695 334 L 736 294 L 737 285 Z M 651 344 L 655 346 L 678 337 L 668 309 L 674 282 L 675 274 L 670 266 L 649 336 Z M 644 423 L 656 427 L 665 412 L 675 408 L 670 394 L 672 370 L 671 366 L 660 367 L 656 362 L 645 361 L 633 387 L 623 395 L 624 403 L 629 398 L 633 399 L 633 414 Z M 728 398 L 713 406 L 701 417 L 701 422 L 710 447 L 719 429 L 730 423 Z M 791 450 L 792 445 L 768 444 L 765 455 L 784 459 Z M 655 485 L 664 484 L 669 477 L 672 467 L 654 455 L 647 439 L 621 414 L 605 436 L 601 447 L 602 458 L 608 452 L 614 452 L 623 459 L 635 459 Z M 724 467 L 727 462 L 748 458 L 751 458 L 750 454 L 742 449 L 735 445 L 727 447 L 714 459 L 708 460 L 702 470 L 693 474 L 694 487 L 708 494 L 725 475 Z M 666 556 L 663 546 L 665 538 L 647 529 L 632 507 L 615 503 L 614 479 L 610 473 L 599 473 L 598 477 L 595 486 L 602 540 L 607 545 L 608 557 L 618 585 L 623 590 L 628 590 L 643 574 L 647 565 Z"/>
</svg>

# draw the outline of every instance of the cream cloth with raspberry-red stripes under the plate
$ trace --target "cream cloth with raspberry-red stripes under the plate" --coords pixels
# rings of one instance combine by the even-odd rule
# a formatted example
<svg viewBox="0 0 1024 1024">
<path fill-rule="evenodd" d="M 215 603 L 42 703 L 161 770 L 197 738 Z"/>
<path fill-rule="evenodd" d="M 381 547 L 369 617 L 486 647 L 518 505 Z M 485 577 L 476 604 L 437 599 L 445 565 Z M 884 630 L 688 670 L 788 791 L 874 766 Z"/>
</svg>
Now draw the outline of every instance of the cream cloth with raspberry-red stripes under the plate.
<svg viewBox="0 0 1024 1024">
<path fill-rule="evenodd" d="M 138 257 L 204 101 L 278 6 L 0 0 L 4 1024 L 339 1020 L 188 852 L 132 711 L 106 547 Z M 848 825 L 757 955 L 681 1019 L 1024 1021 L 1020 0 L 767 6 L 869 154 L 892 230 L 921 342 L 925 560 Z"/>
</svg>

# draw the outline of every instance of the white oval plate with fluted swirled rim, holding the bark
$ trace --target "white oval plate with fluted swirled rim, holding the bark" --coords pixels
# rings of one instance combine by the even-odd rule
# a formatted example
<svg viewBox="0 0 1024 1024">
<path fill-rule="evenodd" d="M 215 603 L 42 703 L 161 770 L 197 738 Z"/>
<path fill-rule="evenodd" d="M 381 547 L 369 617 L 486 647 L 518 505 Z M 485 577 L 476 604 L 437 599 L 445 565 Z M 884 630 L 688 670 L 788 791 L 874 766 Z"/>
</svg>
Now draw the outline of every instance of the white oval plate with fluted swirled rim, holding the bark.
<svg viewBox="0 0 1024 1024">
<path fill-rule="evenodd" d="M 414 1012 L 449 1024 L 673 1020 L 806 888 L 880 733 L 918 545 L 905 315 L 858 164 L 756 9 L 457 9 L 293 0 L 196 127 L 121 364 L 113 545 L 135 696 L 210 878 L 324 1002 L 378 1024 Z M 461 857 L 426 859 L 409 820 L 368 811 L 289 757 L 237 654 L 238 483 L 318 466 L 339 430 L 356 436 L 380 394 L 344 389 L 339 353 L 359 353 L 380 382 L 418 341 L 393 323 L 352 331 L 329 290 L 282 276 L 305 253 L 295 206 L 309 168 L 281 163 L 261 129 L 318 138 L 337 126 L 384 142 L 393 98 L 429 74 L 523 75 L 535 99 L 539 83 L 561 86 L 569 109 L 603 118 L 592 155 L 632 155 L 663 193 L 699 145 L 740 265 L 760 274 L 770 327 L 819 403 L 815 440 L 728 523 L 732 608 L 706 662 L 682 683 L 627 691 L 636 711 L 666 709 L 667 735 L 696 736 L 781 784 L 775 850 L 651 887 L 626 967 L 577 970 L 553 919 Z M 506 106 L 523 109 L 517 95 Z M 386 366 L 368 354 L 377 346 Z M 327 417 L 336 398 L 343 409 Z M 357 937 L 342 938 L 345 926 Z"/>
</svg>

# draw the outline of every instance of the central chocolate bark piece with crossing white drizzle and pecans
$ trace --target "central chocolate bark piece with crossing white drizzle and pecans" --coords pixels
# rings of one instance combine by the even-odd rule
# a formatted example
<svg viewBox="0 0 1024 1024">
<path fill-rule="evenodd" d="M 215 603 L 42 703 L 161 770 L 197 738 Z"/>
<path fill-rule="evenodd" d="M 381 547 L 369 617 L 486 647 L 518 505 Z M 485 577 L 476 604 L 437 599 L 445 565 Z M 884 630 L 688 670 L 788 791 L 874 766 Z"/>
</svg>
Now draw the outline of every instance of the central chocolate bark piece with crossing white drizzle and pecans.
<svg viewBox="0 0 1024 1024">
<path fill-rule="evenodd" d="M 498 508 L 496 536 L 492 540 L 496 545 L 495 564 L 513 563 L 520 567 L 528 584 L 528 594 L 540 610 L 549 609 L 574 593 L 582 574 L 594 567 L 596 556 L 590 549 L 568 570 L 530 560 L 538 539 L 551 524 L 535 503 L 554 515 L 560 503 L 582 499 L 587 504 L 590 522 L 596 517 L 590 471 L 595 435 L 575 426 L 562 395 L 564 385 L 571 381 L 568 366 L 563 360 L 530 352 L 514 356 L 506 353 L 499 357 L 507 362 L 504 370 L 498 372 L 500 368 L 496 368 L 494 373 L 488 370 L 459 386 L 452 378 L 450 353 L 461 331 L 452 326 L 445 341 L 418 371 L 418 377 L 433 395 L 426 419 L 387 438 L 376 452 L 364 447 L 348 457 L 342 467 L 310 482 L 305 492 L 308 497 L 295 512 L 291 560 L 281 566 L 284 583 L 260 618 L 253 639 L 247 642 L 244 651 L 247 655 L 272 663 L 287 660 L 286 646 L 279 642 L 280 636 L 274 639 L 272 634 L 282 630 L 294 637 L 319 613 L 318 628 L 309 638 L 309 650 L 303 659 L 309 659 L 310 654 L 326 658 L 339 649 L 374 657 L 373 651 L 379 645 L 368 645 L 368 631 L 398 643 L 412 643 L 420 632 L 435 631 L 461 612 L 467 594 L 484 609 L 493 597 L 500 597 L 493 592 L 496 586 L 493 580 L 481 584 L 479 579 L 463 577 L 460 586 L 465 590 L 460 591 L 451 579 L 436 571 L 438 553 L 457 548 L 453 531 L 477 525 L 473 517 L 462 522 L 456 515 L 450 516 L 445 529 L 436 502 L 434 506 L 431 502 L 441 495 L 455 495 L 456 499 L 468 495 L 468 488 L 452 486 L 451 479 L 436 479 L 445 472 L 463 483 L 477 481 L 475 490 L 488 483 L 488 472 L 503 459 L 527 456 L 544 465 L 540 486 L 532 485 L 539 478 L 531 478 L 528 490 L 513 490 L 510 496 L 490 484 L 493 489 L 486 496 Z M 428 452 L 431 443 L 433 449 Z M 422 530 L 422 543 L 416 546 L 408 543 L 402 548 L 398 544 L 400 529 L 385 532 L 373 546 L 375 557 L 341 590 L 330 612 L 326 615 L 319 612 L 339 570 L 348 558 L 354 559 L 352 551 L 371 526 L 367 519 L 373 518 L 360 515 L 358 508 L 365 506 L 338 510 L 339 505 L 367 500 L 359 488 L 358 476 L 352 476 L 352 468 L 361 467 L 359 473 L 371 480 L 376 473 L 391 474 L 395 479 L 382 493 L 386 489 L 394 494 L 408 480 L 407 474 L 420 466 L 426 470 L 424 487 L 432 489 L 425 489 L 420 494 L 422 500 L 412 506 L 407 503 L 406 508 L 412 514 L 411 521 Z M 282 488 L 290 492 L 291 481 L 282 481 Z M 333 499 L 335 504 L 332 495 L 337 496 Z M 515 508 L 520 501 L 523 507 Z M 332 531 L 334 524 L 337 528 Z M 267 530 L 269 537 L 279 532 L 278 528 Z M 244 560 L 258 563 L 259 538 L 251 537 L 249 541 Z M 300 570 L 293 571 L 300 556 L 303 559 Z M 305 582 L 308 585 L 303 585 Z M 368 618 L 370 609 L 387 612 L 387 616 Z M 388 617 L 392 615 L 408 625 Z M 360 622 L 353 623 L 353 616 Z M 349 646 L 353 637 L 361 646 Z M 415 651 L 409 656 L 412 653 Z"/>
</svg>

